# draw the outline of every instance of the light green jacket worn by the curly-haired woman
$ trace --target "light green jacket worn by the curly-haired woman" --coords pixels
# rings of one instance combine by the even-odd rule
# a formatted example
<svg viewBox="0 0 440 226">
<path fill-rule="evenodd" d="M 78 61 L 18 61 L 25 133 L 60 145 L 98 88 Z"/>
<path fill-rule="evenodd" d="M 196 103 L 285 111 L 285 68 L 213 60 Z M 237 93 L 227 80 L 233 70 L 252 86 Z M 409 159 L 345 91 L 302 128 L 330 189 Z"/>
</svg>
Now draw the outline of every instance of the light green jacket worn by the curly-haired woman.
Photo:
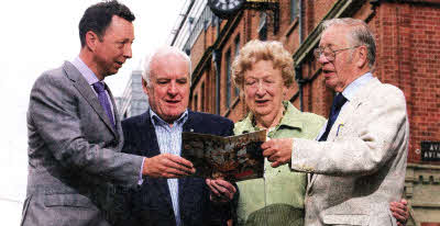
<svg viewBox="0 0 440 226">
<path fill-rule="evenodd" d="M 288 101 L 283 104 L 285 108 L 283 118 L 267 137 L 315 139 L 326 120 L 312 113 L 300 112 Z M 250 113 L 243 121 L 235 123 L 234 134 L 258 129 Z M 240 189 L 238 224 L 302 226 L 307 174 L 292 171 L 287 165 L 272 168 L 267 159 L 264 165 L 264 179 L 238 182 Z"/>
</svg>

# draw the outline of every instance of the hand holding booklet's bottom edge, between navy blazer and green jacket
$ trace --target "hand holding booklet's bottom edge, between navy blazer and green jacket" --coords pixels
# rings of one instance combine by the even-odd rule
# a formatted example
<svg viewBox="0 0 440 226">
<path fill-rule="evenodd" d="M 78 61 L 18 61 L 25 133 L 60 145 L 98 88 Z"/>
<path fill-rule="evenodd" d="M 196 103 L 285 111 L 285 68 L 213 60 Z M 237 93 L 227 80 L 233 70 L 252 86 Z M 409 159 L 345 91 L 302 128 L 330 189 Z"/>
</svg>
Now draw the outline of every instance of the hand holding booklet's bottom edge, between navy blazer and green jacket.
<svg viewBox="0 0 440 226">
<path fill-rule="evenodd" d="M 206 183 L 211 190 L 211 201 L 218 201 L 221 203 L 229 202 L 233 199 L 237 190 L 230 182 L 222 179 L 206 179 Z"/>
</svg>

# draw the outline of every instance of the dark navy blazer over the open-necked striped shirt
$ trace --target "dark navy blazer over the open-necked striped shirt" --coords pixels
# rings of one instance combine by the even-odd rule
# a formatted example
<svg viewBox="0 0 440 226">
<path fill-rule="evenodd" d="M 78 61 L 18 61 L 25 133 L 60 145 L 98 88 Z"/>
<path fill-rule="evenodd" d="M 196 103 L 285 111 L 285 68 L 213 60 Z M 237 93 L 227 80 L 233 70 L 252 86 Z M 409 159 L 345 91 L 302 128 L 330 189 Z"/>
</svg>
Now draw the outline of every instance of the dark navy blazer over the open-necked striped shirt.
<svg viewBox="0 0 440 226">
<path fill-rule="evenodd" d="M 150 112 L 122 122 L 123 152 L 154 157 L 161 154 Z M 184 124 L 184 132 L 229 136 L 233 123 L 219 115 L 191 112 Z M 232 204 L 216 205 L 209 200 L 205 179 L 185 177 L 178 179 L 179 211 L 185 226 L 226 225 L 231 218 Z M 166 179 L 144 178 L 139 190 L 125 190 L 125 219 L 122 225 L 174 226 L 175 216 Z M 238 195 L 235 195 L 237 197 Z M 128 201 L 127 201 L 128 200 Z M 232 202 L 234 203 L 234 202 Z"/>
</svg>

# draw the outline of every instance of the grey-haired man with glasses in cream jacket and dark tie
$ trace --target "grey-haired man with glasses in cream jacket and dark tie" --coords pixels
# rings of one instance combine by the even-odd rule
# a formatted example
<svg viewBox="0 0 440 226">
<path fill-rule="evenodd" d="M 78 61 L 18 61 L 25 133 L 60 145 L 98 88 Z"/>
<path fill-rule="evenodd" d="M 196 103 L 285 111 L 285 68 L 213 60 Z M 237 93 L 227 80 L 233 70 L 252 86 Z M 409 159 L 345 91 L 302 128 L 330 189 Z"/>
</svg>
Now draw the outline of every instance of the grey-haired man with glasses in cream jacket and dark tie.
<svg viewBox="0 0 440 226">
<path fill-rule="evenodd" d="M 272 166 L 311 172 L 306 225 L 396 225 L 388 207 L 404 191 L 409 126 L 404 93 L 372 75 L 375 41 L 354 19 L 323 23 L 315 50 L 338 94 L 319 140 L 272 139 Z"/>
</svg>

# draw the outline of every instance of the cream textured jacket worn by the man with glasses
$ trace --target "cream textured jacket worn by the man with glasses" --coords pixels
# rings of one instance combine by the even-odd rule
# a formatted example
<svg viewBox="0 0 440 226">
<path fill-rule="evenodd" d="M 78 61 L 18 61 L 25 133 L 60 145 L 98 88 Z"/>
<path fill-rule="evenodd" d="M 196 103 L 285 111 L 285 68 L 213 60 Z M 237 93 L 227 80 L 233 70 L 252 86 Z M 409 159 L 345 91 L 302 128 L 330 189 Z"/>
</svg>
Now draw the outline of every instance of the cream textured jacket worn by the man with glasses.
<svg viewBox="0 0 440 226">
<path fill-rule="evenodd" d="M 292 168 L 315 172 L 306 225 L 396 225 L 388 203 L 402 197 L 408 137 L 403 92 L 374 78 L 345 103 L 327 142 L 294 139 Z"/>
</svg>

